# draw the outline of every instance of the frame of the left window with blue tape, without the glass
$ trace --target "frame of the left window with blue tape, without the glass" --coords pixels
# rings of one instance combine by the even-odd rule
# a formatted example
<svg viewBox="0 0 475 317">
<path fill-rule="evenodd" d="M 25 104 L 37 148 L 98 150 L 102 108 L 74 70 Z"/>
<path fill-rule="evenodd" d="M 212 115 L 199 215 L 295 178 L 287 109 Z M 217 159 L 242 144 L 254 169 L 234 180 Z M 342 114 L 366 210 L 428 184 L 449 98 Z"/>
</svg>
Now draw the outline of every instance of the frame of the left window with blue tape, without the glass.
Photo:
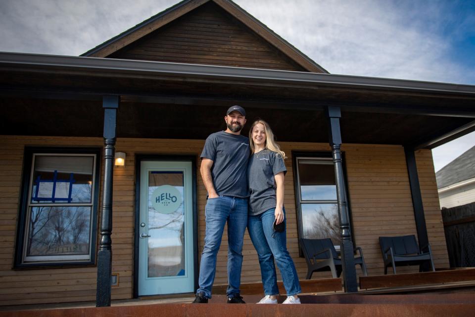
<svg viewBox="0 0 475 317">
<path fill-rule="evenodd" d="M 86 259 L 63 259 L 53 256 L 51 261 L 31 261 L 27 262 L 25 259 L 25 243 L 26 233 L 29 226 L 29 208 L 31 207 L 31 181 L 34 173 L 34 156 L 39 155 L 57 155 L 57 156 L 95 156 L 95 162 L 93 165 L 93 190 L 91 193 L 91 203 L 77 203 L 74 206 L 87 206 L 91 207 L 91 236 L 90 236 L 90 249 L 89 255 L 85 256 Z M 25 147 L 23 155 L 23 175 L 21 183 L 21 196 L 20 204 L 18 208 L 18 221 L 17 221 L 17 234 L 15 242 L 15 258 L 13 268 L 40 268 L 40 267 L 64 267 L 64 266 L 94 266 L 96 264 L 96 248 L 97 248 L 97 222 L 98 222 L 98 200 L 99 200 L 99 188 L 100 188 L 100 164 L 101 163 L 101 148 L 52 148 L 52 147 Z M 37 204 L 35 204 L 37 205 Z M 45 204 L 39 204 L 45 205 Z M 53 204 L 47 204 L 53 205 Z M 61 204 L 57 204 L 62 206 Z M 84 257 L 84 256 L 83 256 Z"/>
</svg>

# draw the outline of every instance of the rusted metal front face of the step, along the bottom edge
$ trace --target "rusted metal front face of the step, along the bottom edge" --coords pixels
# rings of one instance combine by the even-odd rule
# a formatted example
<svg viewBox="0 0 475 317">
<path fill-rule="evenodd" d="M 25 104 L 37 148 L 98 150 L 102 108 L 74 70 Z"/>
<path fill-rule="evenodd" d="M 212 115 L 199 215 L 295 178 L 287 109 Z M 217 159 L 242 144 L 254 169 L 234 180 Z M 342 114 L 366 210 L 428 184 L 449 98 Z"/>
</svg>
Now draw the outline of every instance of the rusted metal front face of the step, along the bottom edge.
<svg viewBox="0 0 475 317">
<path fill-rule="evenodd" d="M 156 304 L 80 309 L 1 312 L 0 317 L 434 317 L 472 316 L 475 304 Z"/>
</svg>

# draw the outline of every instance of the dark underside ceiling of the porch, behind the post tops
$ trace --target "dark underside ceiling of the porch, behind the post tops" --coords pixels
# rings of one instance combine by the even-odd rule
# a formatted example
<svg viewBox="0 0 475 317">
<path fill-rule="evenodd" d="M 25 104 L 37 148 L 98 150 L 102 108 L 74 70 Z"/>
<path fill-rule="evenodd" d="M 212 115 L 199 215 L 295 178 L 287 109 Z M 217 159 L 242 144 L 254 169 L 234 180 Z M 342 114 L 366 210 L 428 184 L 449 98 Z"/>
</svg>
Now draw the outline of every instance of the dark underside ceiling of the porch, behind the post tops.
<svg viewBox="0 0 475 317">
<path fill-rule="evenodd" d="M 101 137 L 104 111 L 100 101 L 0 97 L 3 135 Z M 123 138 L 205 139 L 226 128 L 226 108 L 122 102 L 117 136 Z M 248 123 L 261 117 L 272 125 L 278 141 L 328 142 L 321 108 L 286 109 L 246 106 Z M 410 144 L 423 142 L 471 122 L 472 118 L 416 114 L 342 111 L 343 143 Z"/>
</svg>

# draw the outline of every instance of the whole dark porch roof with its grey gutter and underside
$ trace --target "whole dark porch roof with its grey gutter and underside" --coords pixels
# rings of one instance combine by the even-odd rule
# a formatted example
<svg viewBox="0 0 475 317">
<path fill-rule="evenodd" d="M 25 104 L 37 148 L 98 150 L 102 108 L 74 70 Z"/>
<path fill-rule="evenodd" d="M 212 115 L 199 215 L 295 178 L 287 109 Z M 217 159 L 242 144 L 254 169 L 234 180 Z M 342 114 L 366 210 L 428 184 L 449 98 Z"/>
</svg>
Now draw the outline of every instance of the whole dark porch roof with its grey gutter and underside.
<svg viewBox="0 0 475 317">
<path fill-rule="evenodd" d="M 121 96 L 119 137 L 204 139 L 233 104 L 278 141 L 328 142 L 325 106 L 341 106 L 344 143 L 432 148 L 475 130 L 472 85 L 26 53 L 0 53 L 0 70 L 0 134 L 101 136 L 103 95 Z"/>
</svg>

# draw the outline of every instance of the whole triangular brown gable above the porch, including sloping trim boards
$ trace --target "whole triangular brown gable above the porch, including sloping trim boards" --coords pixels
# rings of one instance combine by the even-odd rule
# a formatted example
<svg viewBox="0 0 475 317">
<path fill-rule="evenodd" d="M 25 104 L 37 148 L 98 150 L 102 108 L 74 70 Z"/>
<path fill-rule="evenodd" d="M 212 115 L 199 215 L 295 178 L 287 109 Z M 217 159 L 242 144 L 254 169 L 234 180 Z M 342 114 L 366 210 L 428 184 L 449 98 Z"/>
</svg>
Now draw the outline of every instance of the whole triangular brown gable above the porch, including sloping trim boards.
<svg viewBox="0 0 475 317">
<path fill-rule="evenodd" d="M 170 28 L 170 25 L 178 25 L 179 23 L 176 20 L 193 10 L 193 14 L 197 14 L 195 17 L 198 17 L 198 24 L 201 28 L 195 30 L 191 27 L 189 28 L 190 31 L 187 28 L 179 30 L 182 33 L 190 34 L 187 38 L 188 43 L 185 43 L 186 45 L 170 48 L 166 47 L 166 45 L 171 45 L 172 42 L 164 41 L 165 43 L 160 47 L 168 49 L 169 51 L 167 52 L 157 52 L 156 49 L 151 49 L 151 47 L 154 47 L 153 41 L 148 46 L 143 45 L 146 42 L 143 39 L 150 40 L 153 38 L 152 34 L 157 36 L 160 33 L 159 30 L 164 32 L 163 30 Z M 221 17 L 224 21 L 216 21 L 215 19 L 215 23 L 212 25 L 210 23 L 212 15 L 204 14 L 199 16 L 199 13 L 214 13 L 215 18 Z M 192 14 L 190 13 L 188 16 L 192 16 Z M 233 33 L 231 32 L 233 28 L 230 26 L 237 26 L 238 29 L 235 29 Z M 252 39 L 239 38 L 236 35 L 238 30 L 242 34 L 251 35 Z M 201 31 L 201 34 L 193 34 L 193 31 Z M 216 35 L 215 33 L 221 34 Z M 214 38 L 206 38 L 206 35 Z M 177 39 L 173 36 L 172 39 L 176 40 L 179 44 L 184 42 L 183 39 Z M 216 40 L 217 42 L 207 40 Z M 196 42 L 201 43 L 201 45 L 196 45 Z M 211 52 L 211 54 L 203 53 L 202 51 L 205 51 L 202 49 L 203 47 L 208 48 L 209 50 L 206 51 Z M 142 52 L 133 51 L 137 49 L 141 49 Z M 133 57 L 132 55 L 138 55 L 138 57 Z M 203 55 L 207 57 L 202 58 Z M 99 44 L 88 52 L 81 54 L 81 56 L 155 61 L 173 59 L 174 62 L 328 73 L 325 68 L 286 42 L 232 0 L 182 0 L 165 11 Z M 178 61 L 172 57 L 179 57 Z"/>
</svg>

